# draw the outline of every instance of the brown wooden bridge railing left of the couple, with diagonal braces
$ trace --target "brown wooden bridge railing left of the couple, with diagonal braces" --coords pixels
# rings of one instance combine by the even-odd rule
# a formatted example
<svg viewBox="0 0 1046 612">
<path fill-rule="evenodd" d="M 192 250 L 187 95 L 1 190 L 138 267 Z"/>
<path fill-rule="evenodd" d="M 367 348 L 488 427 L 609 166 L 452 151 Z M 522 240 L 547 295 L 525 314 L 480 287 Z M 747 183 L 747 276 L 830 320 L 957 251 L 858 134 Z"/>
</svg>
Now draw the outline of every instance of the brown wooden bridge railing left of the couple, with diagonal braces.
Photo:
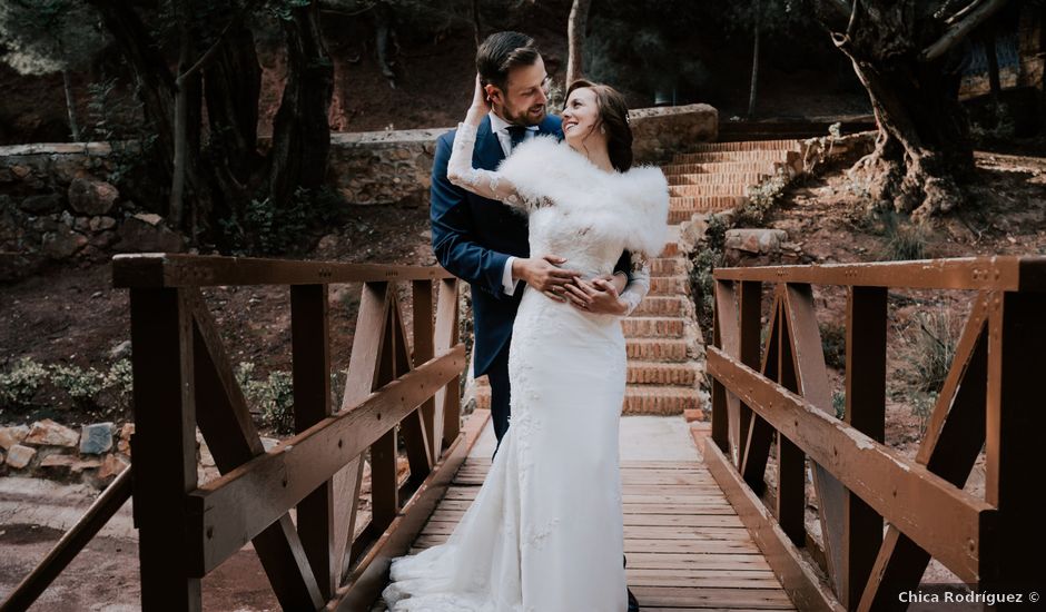
<svg viewBox="0 0 1046 612">
<path fill-rule="evenodd" d="M 412 287 L 413 342 L 399 282 Z M 337 409 L 327 309 L 328 286 L 342 283 L 363 283 L 363 296 Z M 456 279 L 440 267 L 154 254 L 116 257 L 114 284 L 130 289 L 131 468 L 4 610 L 28 606 L 130 493 L 146 611 L 199 610 L 200 579 L 247 542 L 285 610 L 367 609 L 388 557 L 407 551 L 464 460 Z M 297 435 L 267 452 L 200 290 L 228 285 L 290 289 Z M 197 427 L 221 473 L 205 483 Z M 367 453 L 372 517 L 354 536 Z"/>
</svg>

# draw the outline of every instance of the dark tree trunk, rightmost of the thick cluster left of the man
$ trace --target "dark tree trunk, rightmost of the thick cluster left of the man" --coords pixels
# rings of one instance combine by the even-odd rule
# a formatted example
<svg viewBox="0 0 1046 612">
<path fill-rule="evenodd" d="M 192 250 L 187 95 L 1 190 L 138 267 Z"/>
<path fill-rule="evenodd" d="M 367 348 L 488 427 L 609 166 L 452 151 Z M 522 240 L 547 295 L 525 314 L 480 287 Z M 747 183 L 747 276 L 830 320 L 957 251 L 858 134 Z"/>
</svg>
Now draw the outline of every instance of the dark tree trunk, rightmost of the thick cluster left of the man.
<svg viewBox="0 0 1046 612">
<path fill-rule="evenodd" d="M 296 8 L 284 21 L 287 85 L 273 125 L 269 198 L 285 205 L 298 187 L 323 186 L 330 148 L 327 109 L 334 68 L 319 32 L 315 2 Z"/>
</svg>

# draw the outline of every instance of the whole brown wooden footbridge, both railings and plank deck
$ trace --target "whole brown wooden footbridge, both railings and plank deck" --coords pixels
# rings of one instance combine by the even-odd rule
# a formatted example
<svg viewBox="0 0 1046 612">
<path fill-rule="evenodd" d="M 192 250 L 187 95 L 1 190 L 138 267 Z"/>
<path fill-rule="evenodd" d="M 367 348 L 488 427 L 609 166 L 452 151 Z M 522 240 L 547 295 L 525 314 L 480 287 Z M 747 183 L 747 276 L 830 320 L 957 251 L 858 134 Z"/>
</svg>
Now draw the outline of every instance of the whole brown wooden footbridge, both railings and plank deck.
<svg viewBox="0 0 1046 612">
<path fill-rule="evenodd" d="M 284 609 L 371 610 L 392 556 L 450 533 L 490 442 L 484 412 L 461 426 L 465 348 L 457 284 L 442 268 L 137 255 L 116 258 L 114 276 L 130 290 L 134 464 L 2 610 L 27 609 L 131 495 L 147 611 L 200 609 L 201 579 L 248 542 Z M 930 557 L 980 588 L 1043 582 L 1042 493 L 1026 457 L 1046 425 L 1046 258 L 731 268 L 716 282 L 703 460 L 622 464 L 629 581 L 643 610 L 891 610 Z M 363 295 L 335 402 L 328 288 L 343 283 Z M 228 285 L 289 287 L 298 433 L 269 451 L 203 297 Z M 843 421 L 829 413 L 816 285 L 848 295 Z M 915 458 L 882 443 L 889 288 L 973 300 Z M 210 482 L 197 481 L 197 427 L 221 472 Z M 979 497 L 964 483 L 981 447 Z M 803 521 L 807 465 L 821 543 Z"/>
</svg>

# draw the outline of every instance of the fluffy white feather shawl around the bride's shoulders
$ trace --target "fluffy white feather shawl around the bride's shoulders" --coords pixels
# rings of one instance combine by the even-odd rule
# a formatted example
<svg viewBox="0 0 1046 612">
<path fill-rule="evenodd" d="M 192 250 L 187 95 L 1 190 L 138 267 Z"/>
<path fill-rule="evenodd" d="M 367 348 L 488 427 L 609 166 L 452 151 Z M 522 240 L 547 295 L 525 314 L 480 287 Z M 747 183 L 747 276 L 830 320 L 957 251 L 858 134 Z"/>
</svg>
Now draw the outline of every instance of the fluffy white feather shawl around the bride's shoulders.
<svg viewBox="0 0 1046 612">
<path fill-rule="evenodd" d="M 497 172 L 512 181 L 529 211 L 551 201 L 623 237 L 633 253 L 657 257 L 664 248 L 669 187 L 654 166 L 606 172 L 565 142 L 539 136 L 519 145 Z"/>
</svg>

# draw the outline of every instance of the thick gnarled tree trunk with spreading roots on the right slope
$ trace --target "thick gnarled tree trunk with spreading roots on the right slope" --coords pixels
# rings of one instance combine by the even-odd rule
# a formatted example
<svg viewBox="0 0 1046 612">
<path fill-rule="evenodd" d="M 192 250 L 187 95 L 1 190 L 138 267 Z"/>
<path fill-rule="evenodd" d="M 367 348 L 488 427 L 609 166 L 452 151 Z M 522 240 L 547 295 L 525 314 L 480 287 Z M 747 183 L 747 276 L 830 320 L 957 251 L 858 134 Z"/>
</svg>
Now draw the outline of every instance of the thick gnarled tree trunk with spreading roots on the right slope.
<svg viewBox="0 0 1046 612">
<path fill-rule="evenodd" d="M 851 169 L 877 205 L 925 220 L 963 201 L 957 180 L 974 168 L 966 111 L 958 101 L 957 51 L 926 61 L 943 26 L 914 0 L 865 1 L 839 43 L 868 90 L 879 126 L 876 150 Z"/>
</svg>

